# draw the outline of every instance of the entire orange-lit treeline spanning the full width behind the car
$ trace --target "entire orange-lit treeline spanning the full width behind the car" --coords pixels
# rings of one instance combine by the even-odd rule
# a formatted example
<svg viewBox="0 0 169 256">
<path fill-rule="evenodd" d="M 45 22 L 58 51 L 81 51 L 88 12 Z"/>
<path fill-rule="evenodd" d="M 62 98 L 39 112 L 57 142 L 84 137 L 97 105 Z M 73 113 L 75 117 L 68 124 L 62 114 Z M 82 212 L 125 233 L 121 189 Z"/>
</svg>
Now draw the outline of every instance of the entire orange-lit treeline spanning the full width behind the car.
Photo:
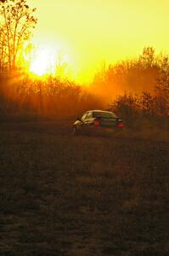
<svg viewBox="0 0 169 256">
<path fill-rule="evenodd" d="M 115 111 L 127 126 L 169 129 L 169 58 L 145 48 L 138 60 L 104 68 L 89 90 L 68 79 L 31 79 L 28 74 L 0 74 L 1 118 L 38 119 L 79 116 L 93 108 Z"/>
</svg>

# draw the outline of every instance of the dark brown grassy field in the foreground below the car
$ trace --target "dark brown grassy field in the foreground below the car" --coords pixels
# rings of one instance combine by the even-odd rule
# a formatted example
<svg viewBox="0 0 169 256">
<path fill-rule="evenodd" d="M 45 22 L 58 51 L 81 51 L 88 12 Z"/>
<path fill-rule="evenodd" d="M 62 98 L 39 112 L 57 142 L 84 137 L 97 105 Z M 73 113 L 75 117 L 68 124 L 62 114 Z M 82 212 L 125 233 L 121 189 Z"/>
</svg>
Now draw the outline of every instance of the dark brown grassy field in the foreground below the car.
<svg viewBox="0 0 169 256">
<path fill-rule="evenodd" d="M 169 255 L 169 136 L 0 127 L 0 255 Z"/>
</svg>

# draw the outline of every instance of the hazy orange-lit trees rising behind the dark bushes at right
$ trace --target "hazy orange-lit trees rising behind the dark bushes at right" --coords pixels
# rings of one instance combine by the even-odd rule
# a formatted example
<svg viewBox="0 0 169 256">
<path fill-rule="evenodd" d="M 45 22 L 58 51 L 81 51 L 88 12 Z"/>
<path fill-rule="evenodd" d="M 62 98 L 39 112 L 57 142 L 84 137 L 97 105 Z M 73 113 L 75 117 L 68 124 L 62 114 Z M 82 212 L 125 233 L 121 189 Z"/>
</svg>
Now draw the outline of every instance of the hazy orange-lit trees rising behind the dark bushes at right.
<svg viewBox="0 0 169 256">
<path fill-rule="evenodd" d="M 168 55 L 156 55 L 155 49 L 145 47 L 136 59 L 102 67 L 93 79 L 92 88 L 107 102 L 125 92 L 140 94 L 148 90 L 153 94 L 159 85 L 168 90 L 168 84 Z"/>
</svg>

